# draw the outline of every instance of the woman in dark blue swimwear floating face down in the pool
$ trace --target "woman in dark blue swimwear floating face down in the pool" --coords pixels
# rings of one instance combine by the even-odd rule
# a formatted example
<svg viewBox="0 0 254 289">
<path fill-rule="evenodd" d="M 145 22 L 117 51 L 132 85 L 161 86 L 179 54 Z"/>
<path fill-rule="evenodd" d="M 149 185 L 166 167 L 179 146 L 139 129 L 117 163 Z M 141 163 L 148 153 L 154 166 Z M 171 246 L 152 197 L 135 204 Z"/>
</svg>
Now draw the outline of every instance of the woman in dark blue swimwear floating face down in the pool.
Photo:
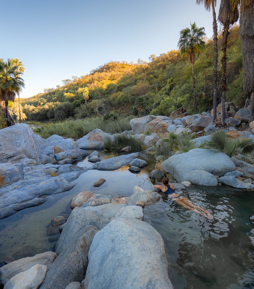
<svg viewBox="0 0 254 289">
<path fill-rule="evenodd" d="M 162 179 L 162 185 L 154 185 L 154 188 L 162 190 L 165 194 L 168 194 L 170 199 L 173 199 L 176 201 L 179 205 L 183 206 L 184 208 L 188 210 L 192 210 L 196 213 L 199 213 L 205 217 L 213 218 L 213 216 L 206 210 L 203 210 L 199 206 L 193 205 L 188 199 L 185 197 L 178 196 L 177 193 L 175 193 L 174 185 L 169 183 L 168 178 Z"/>
</svg>

